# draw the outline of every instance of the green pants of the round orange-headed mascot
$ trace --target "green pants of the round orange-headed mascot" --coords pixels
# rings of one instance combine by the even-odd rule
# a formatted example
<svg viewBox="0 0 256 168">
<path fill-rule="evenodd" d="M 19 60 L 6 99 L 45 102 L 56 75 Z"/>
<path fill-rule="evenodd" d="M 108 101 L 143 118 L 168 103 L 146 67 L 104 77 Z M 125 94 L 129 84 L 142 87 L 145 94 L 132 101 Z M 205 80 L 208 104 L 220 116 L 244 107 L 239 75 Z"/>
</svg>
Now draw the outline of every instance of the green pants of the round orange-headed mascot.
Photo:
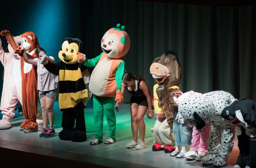
<svg viewBox="0 0 256 168">
<path fill-rule="evenodd" d="M 114 111 L 115 97 L 99 97 L 93 95 L 93 113 L 95 125 L 95 137 L 102 142 L 103 138 L 103 114 L 109 125 L 109 137 L 116 140 L 116 115 Z"/>
</svg>

